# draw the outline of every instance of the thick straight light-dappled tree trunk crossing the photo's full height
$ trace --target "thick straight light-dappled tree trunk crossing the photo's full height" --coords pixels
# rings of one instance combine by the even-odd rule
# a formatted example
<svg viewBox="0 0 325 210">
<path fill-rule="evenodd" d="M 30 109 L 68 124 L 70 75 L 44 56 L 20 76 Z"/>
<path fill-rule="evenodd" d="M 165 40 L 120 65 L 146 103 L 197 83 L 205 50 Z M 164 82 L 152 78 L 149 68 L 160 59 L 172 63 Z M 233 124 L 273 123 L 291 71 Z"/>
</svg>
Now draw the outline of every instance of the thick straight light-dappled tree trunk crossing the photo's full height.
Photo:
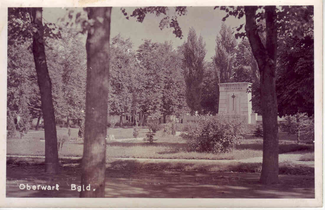
<svg viewBox="0 0 325 210">
<path fill-rule="evenodd" d="M 86 117 L 81 176 L 85 191 L 80 192 L 80 197 L 104 197 L 111 7 L 89 7 L 86 10 L 88 19 L 95 23 L 88 30 L 86 41 Z M 89 184 L 91 189 L 87 191 Z"/>
</svg>

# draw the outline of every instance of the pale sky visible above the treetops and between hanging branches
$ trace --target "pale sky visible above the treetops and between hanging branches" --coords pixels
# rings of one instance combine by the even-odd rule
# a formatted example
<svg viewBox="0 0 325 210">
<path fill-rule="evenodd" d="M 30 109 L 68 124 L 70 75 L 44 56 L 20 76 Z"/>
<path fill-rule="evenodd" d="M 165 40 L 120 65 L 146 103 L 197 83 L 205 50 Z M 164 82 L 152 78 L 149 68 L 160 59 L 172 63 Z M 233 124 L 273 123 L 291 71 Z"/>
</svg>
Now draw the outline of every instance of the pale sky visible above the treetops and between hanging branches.
<svg viewBox="0 0 325 210">
<path fill-rule="evenodd" d="M 125 12 L 128 16 L 132 14 L 136 7 L 125 7 Z M 82 9 L 77 8 L 80 11 Z M 160 20 L 164 17 L 156 17 L 153 14 L 147 14 L 144 21 L 139 23 L 136 18 L 130 17 L 129 20 L 122 14 L 120 7 L 113 7 L 111 13 L 111 29 L 110 37 L 114 37 L 121 34 L 124 38 L 130 38 L 134 43 L 133 50 L 136 51 L 138 46 L 144 42 L 145 39 L 151 39 L 152 42 L 163 43 L 164 41 L 172 41 L 173 47 L 180 46 L 187 40 L 187 35 L 190 27 L 193 27 L 197 35 L 203 37 L 203 41 L 206 43 L 206 61 L 212 61 L 211 57 L 215 54 L 215 39 L 219 34 L 222 18 L 226 15 L 224 11 L 220 11 L 219 8 L 214 10 L 213 6 L 195 6 L 187 7 L 186 16 L 178 16 L 177 20 L 179 26 L 183 31 L 183 38 L 176 38 L 173 34 L 174 28 L 159 29 Z M 175 9 L 170 7 L 169 16 L 174 16 Z M 43 18 L 45 21 L 52 23 L 62 24 L 58 19 L 63 18 L 66 15 L 66 8 L 43 8 Z M 84 12 L 85 15 L 85 12 Z M 244 18 L 235 19 L 229 17 L 225 21 L 226 25 L 230 27 L 238 27 L 244 23 Z M 233 29 L 236 31 L 235 29 Z"/>
</svg>

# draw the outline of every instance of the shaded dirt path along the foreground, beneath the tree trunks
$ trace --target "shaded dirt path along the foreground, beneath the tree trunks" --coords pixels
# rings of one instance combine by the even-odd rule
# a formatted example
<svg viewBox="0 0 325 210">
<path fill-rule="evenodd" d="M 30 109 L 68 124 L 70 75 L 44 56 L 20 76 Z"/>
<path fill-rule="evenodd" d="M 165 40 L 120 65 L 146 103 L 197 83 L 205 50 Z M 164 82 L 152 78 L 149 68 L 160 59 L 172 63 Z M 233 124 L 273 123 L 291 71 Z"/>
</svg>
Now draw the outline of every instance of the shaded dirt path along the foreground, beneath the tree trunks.
<svg viewBox="0 0 325 210">
<path fill-rule="evenodd" d="M 63 167 L 59 174 L 53 175 L 44 173 L 44 165 L 9 165 L 6 168 L 6 197 L 78 197 L 79 192 L 72 190 L 71 185 L 80 185 L 80 176 L 80 167 Z M 272 186 L 260 185 L 259 177 L 258 173 L 107 169 L 105 197 L 315 197 L 314 176 L 279 175 L 280 183 Z M 30 190 L 27 190 L 27 184 Z M 32 189 L 33 185 L 35 190 Z M 50 188 L 42 190 L 41 186 Z"/>
</svg>

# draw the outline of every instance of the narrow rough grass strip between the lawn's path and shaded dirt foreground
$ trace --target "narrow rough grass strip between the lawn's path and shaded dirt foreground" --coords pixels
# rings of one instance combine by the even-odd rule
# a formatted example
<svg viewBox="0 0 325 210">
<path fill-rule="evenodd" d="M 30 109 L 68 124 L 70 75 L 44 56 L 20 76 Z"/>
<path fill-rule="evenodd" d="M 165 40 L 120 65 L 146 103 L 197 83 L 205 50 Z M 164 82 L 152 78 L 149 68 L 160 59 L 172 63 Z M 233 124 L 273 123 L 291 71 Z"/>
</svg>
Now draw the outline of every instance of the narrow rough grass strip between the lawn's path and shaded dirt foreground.
<svg viewBox="0 0 325 210">
<path fill-rule="evenodd" d="M 81 158 L 59 158 L 61 167 L 80 167 Z M 39 165 L 44 164 L 43 157 L 7 157 L 7 166 L 12 165 Z M 110 158 L 106 162 L 106 167 L 110 169 L 128 170 L 181 170 L 181 171 L 209 171 L 209 172 L 241 172 L 241 173 L 261 173 L 262 163 L 242 163 L 231 162 L 206 162 L 202 161 L 178 161 L 170 162 L 148 161 L 148 160 L 121 160 Z M 289 175 L 314 175 L 313 167 L 294 164 L 290 161 L 279 163 L 279 174 Z"/>
</svg>

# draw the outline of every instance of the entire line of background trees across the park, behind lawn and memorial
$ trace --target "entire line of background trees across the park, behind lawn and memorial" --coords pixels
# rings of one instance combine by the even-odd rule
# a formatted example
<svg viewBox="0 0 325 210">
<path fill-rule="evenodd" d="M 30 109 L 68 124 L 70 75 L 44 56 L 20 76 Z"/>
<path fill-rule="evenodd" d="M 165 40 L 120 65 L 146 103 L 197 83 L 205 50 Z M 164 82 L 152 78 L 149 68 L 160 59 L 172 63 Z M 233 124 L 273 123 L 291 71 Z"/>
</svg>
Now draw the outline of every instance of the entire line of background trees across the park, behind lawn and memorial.
<svg viewBox="0 0 325 210">
<path fill-rule="evenodd" d="M 261 25 L 265 26 L 265 21 L 261 21 Z M 76 31 L 61 29 L 61 39 L 50 42 L 47 50 L 55 115 L 57 119 L 67 119 L 67 124 L 70 124 L 69 119 L 82 119 L 82 110 L 85 110 L 86 51 L 79 47 L 83 42 L 75 34 Z M 265 39 L 265 33 L 261 35 Z M 280 40 L 283 39 L 286 44 L 277 62 L 277 97 L 281 105 L 279 115 L 294 114 L 297 111 L 311 115 L 313 32 L 304 33 L 300 39 L 289 36 L 281 37 Z M 205 43 L 202 37 L 197 37 L 193 28 L 189 30 L 187 41 L 178 49 L 173 49 L 171 42 L 152 43 L 151 40 L 145 40 L 136 52 L 132 50 L 132 46 L 132 41 L 121 35 L 113 37 L 111 41 L 112 71 L 108 113 L 120 115 L 121 125 L 122 116 L 132 115 L 135 124 L 139 113 L 142 113 L 139 119 L 144 119 L 144 122 L 148 116 L 163 116 L 165 122 L 166 115 L 180 116 L 186 111 L 190 111 L 192 115 L 196 112 L 203 115 L 216 114 L 219 102 L 218 83 L 225 82 L 252 82 L 250 91 L 253 93 L 253 110 L 261 114 L 260 78 L 250 43 L 245 38 L 237 43 L 232 29 L 226 24 L 222 23 L 216 37 L 212 62 L 204 60 Z M 36 74 L 32 70 L 32 55 L 24 53 L 27 49 L 28 43 L 15 47 L 8 45 L 7 116 L 9 121 L 13 121 L 14 116 L 22 116 L 20 101 L 25 100 L 30 118 L 38 118 L 39 123 L 42 115 L 41 100 L 37 94 Z M 23 56 L 18 56 L 22 54 Z M 19 68 L 27 71 L 22 72 Z M 295 68 L 301 70 L 297 71 Z M 12 84 L 19 77 L 21 84 Z M 291 81 L 292 88 L 287 88 L 285 81 Z M 308 84 L 311 85 L 310 88 L 304 88 Z M 303 93 L 307 93 L 304 95 L 307 100 L 302 100 Z"/>
</svg>

